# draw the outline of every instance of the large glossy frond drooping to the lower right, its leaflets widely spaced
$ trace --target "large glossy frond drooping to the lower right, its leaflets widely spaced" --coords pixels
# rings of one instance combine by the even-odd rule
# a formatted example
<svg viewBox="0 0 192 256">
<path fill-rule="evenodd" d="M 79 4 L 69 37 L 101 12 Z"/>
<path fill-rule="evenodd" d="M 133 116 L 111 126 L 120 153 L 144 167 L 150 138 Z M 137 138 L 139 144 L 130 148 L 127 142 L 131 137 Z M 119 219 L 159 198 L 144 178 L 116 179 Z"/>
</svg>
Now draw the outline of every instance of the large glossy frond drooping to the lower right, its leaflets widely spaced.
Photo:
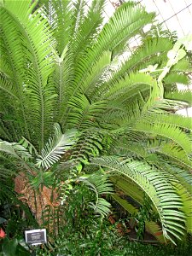
<svg viewBox="0 0 192 256">
<path fill-rule="evenodd" d="M 185 215 L 182 200 L 169 179 L 162 173 L 137 160 L 119 161 L 117 157 L 102 157 L 92 160 L 93 164 L 105 166 L 112 172 L 119 172 L 143 189 L 160 215 L 163 235 L 171 240 L 181 239 L 185 229 Z"/>
</svg>

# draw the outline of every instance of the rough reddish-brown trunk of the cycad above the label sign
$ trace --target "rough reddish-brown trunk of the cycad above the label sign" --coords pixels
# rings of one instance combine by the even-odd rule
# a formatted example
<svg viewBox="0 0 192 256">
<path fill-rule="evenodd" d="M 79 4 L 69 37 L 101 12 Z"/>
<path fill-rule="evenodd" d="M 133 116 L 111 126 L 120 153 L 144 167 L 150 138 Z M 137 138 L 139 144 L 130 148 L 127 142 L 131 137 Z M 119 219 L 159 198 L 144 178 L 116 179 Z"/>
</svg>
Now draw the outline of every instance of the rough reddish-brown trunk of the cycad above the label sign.
<svg viewBox="0 0 192 256">
<path fill-rule="evenodd" d="M 54 215 L 55 209 L 60 205 L 56 191 L 45 186 L 39 189 L 39 191 L 35 191 L 29 183 L 26 174 L 20 172 L 18 176 L 15 177 L 15 192 L 20 195 L 19 200 L 28 205 L 39 226 L 44 224 L 44 228 L 47 228 L 49 232 L 55 231 L 56 233 Z M 46 209 L 49 209 L 49 217 L 44 218 Z"/>
</svg>

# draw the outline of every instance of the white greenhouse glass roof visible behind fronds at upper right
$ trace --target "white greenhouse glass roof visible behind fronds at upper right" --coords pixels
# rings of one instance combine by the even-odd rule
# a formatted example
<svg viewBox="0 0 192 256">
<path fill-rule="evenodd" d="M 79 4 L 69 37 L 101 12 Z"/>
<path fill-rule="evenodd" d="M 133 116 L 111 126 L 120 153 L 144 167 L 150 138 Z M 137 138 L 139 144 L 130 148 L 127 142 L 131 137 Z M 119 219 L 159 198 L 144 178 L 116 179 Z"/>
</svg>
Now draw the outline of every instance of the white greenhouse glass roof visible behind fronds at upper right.
<svg viewBox="0 0 192 256">
<path fill-rule="evenodd" d="M 92 0 L 87 0 L 89 5 Z M 99 1 L 99 0 L 98 0 Z M 105 21 L 113 15 L 113 12 L 120 4 L 129 0 L 108 0 L 105 8 Z M 178 38 L 183 38 L 192 34 L 192 0 L 132 0 L 146 8 L 148 12 L 156 13 L 156 20 L 166 30 L 176 32 Z M 146 26 L 143 32 L 147 32 L 150 26 Z M 131 38 L 128 48 L 130 50 L 137 48 L 140 44 L 140 36 Z M 192 74 L 191 74 L 192 79 Z M 177 84 L 178 88 L 183 90 L 186 85 Z M 192 84 L 187 85 L 192 90 Z M 191 94 L 192 98 L 192 94 Z M 192 108 L 179 110 L 178 113 L 192 117 Z"/>
</svg>

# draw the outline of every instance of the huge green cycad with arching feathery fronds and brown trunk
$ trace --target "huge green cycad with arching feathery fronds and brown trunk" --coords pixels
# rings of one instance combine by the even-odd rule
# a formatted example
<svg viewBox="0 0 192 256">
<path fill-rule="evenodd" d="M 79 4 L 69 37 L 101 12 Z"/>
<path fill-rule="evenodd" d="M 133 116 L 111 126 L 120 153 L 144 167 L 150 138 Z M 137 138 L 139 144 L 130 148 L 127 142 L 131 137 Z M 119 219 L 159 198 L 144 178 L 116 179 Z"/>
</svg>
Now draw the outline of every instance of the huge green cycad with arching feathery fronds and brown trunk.
<svg viewBox="0 0 192 256">
<path fill-rule="evenodd" d="M 15 177 L 40 224 L 81 182 L 96 192 L 90 206 L 107 215 L 109 177 L 113 199 L 137 216 L 122 192 L 148 201 L 148 230 L 174 242 L 192 231 L 191 120 L 175 113 L 191 104 L 176 86 L 189 84 L 189 37 L 143 35 L 154 14 L 132 2 L 105 23 L 104 6 L 1 2 L 1 190 Z M 142 44 L 127 56 L 134 36 Z"/>
</svg>

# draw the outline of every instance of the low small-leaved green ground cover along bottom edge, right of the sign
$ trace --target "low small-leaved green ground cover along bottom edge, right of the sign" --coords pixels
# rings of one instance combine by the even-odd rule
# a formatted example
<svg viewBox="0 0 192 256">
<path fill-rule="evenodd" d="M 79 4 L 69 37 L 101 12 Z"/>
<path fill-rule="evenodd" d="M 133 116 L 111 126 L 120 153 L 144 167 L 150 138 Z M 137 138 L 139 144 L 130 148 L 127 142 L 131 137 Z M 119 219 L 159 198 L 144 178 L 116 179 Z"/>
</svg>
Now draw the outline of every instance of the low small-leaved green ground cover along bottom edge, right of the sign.
<svg viewBox="0 0 192 256">
<path fill-rule="evenodd" d="M 87 218 L 90 218 L 87 216 Z M 172 246 L 152 246 L 137 241 L 129 241 L 128 236 L 119 236 L 119 233 L 108 224 L 108 221 L 99 218 L 90 218 L 89 229 L 86 233 L 72 230 L 71 233 L 62 230 L 49 247 L 37 248 L 37 255 L 56 256 L 189 256 L 190 244 Z"/>
</svg>

